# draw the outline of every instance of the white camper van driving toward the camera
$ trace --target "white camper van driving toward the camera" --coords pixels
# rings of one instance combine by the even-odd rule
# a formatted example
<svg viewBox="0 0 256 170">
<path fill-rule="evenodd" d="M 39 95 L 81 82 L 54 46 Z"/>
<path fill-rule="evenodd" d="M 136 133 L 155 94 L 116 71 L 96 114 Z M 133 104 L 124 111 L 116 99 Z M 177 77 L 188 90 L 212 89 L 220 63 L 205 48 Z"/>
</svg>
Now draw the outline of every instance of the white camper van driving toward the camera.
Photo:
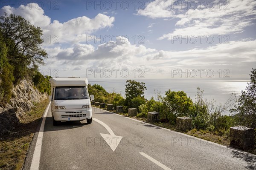
<svg viewBox="0 0 256 170">
<path fill-rule="evenodd" d="M 90 99 L 94 96 L 88 93 L 87 78 L 51 78 L 51 111 L 53 125 L 61 121 L 82 121 L 92 123 L 92 108 Z"/>
</svg>

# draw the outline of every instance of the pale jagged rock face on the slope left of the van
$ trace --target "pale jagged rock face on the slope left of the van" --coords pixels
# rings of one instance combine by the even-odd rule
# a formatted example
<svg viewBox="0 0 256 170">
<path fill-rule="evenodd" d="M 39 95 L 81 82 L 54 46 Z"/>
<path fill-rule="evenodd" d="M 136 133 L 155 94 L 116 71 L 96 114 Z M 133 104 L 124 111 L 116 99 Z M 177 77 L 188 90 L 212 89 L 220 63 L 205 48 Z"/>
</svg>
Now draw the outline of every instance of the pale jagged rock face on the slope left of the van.
<svg viewBox="0 0 256 170">
<path fill-rule="evenodd" d="M 0 106 L 0 136 L 8 134 L 15 125 L 20 123 L 20 118 L 25 117 L 25 112 L 47 98 L 47 94 L 40 93 L 32 81 L 21 80 L 20 83 L 12 89 L 13 98 L 10 104 Z"/>
</svg>

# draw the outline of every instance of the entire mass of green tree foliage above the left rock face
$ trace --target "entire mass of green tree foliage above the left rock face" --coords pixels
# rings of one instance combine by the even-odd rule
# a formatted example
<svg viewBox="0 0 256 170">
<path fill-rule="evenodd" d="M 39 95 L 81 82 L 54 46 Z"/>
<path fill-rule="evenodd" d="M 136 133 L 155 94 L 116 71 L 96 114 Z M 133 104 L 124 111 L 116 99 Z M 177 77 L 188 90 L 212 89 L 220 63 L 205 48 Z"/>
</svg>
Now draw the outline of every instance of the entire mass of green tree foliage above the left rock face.
<svg viewBox="0 0 256 170">
<path fill-rule="evenodd" d="M 23 78 L 34 78 L 39 91 L 48 91 L 49 81 L 45 81 L 48 78 L 37 72 L 47 58 L 41 48 L 42 35 L 39 27 L 21 16 L 0 16 L 0 104 L 10 101 L 13 84 Z"/>
</svg>

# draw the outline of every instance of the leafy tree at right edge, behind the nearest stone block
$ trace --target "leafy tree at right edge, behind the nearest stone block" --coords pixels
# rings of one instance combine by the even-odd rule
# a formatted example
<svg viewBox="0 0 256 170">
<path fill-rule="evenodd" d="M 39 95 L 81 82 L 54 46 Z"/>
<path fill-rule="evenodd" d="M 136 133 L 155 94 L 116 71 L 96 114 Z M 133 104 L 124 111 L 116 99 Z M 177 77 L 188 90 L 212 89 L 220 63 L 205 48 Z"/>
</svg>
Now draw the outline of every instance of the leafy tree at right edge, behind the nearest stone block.
<svg viewBox="0 0 256 170">
<path fill-rule="evenodd" d="M 247 83 L 246 91 L 241 91 L 239 95 L 238 106 L 231 109 L 237 125 L 256 128 L 256 69 L 250 74 L 250 83 Z"/>
</svg>

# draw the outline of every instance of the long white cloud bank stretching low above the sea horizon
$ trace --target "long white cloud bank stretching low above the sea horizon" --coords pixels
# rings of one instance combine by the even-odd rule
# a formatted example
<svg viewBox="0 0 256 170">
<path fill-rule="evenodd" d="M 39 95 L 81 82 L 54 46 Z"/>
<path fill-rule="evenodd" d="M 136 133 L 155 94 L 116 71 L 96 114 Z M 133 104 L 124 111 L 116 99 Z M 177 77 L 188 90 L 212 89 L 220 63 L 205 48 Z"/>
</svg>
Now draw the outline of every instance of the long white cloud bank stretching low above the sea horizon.
<svg viewBox="0 0 256 170">
<path fill-rule="evenodd" d="M 49 57 L 52 62 L 47 63 L 47 66 L 58 63 L 60 67 L 65 66 L 66 70 L 81 70 L 79 74 L 86 72 L 86 69 L 127 69 L 129 72 L 143 69 L 147 75 L 151 75 L 150 78 L 154 75 L 159 78 L 170 75 L 171 70 L 176 68 L 213 69 L 215 72 L 230 69 L 231 73 L 239 75 L 240 72 L 249 72 L 255 62 L 255 40 L 230 41 L 229 44 L 186 51 L 158 51 L 143 45 L 131 45 L 129 41 L 122 43 L 125 41 L 125 37 L 117 37 L 116 42 L 101 44 L 97 49 L 87 44 L 67 49 L 56 48 L 54 56 Z"/>
</svg>

